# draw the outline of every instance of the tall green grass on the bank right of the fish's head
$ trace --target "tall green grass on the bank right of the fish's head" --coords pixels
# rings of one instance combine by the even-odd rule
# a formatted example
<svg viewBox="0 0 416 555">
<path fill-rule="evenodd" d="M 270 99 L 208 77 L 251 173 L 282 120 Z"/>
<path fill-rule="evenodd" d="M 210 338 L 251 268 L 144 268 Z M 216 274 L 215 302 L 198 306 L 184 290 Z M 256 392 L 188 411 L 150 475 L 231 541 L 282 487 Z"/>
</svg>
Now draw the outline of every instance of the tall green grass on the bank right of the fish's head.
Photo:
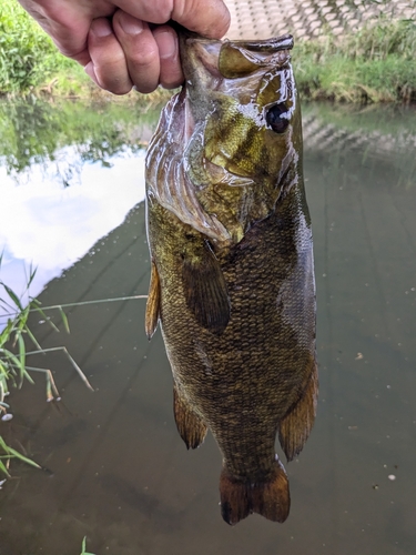
<svg viewBox="0 0 416 555">
<path fill-rule="evenodd" d="M 303 98 L 416 101 L 416 22 L 381 17 L 354 34 L 304 40 L 294 50 Z"/>
</svg>

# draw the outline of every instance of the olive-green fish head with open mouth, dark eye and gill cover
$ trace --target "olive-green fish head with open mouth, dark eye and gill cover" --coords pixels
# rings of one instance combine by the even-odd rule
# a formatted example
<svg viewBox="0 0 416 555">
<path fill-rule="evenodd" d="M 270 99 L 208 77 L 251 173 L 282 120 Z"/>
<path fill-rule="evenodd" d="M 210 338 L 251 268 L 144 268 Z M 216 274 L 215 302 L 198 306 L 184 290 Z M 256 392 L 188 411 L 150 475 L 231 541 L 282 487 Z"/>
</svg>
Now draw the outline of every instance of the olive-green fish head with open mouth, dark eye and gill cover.
<svg viewBox="0 0 416 555">
<path fill-rule="evenodd" d="M 212 239 L 239 242 L 302 176 L 292 47 L 291 36 L 221 41 L 180 33 L 185 83 L 159 133 L 165 161 L 159 152 L 148 158 L 169 183 L 154 185 L 169 189 L 166 208 Z M 174 179 L 166 168 L 172 175 L 175 168 Z"/>
</svg>

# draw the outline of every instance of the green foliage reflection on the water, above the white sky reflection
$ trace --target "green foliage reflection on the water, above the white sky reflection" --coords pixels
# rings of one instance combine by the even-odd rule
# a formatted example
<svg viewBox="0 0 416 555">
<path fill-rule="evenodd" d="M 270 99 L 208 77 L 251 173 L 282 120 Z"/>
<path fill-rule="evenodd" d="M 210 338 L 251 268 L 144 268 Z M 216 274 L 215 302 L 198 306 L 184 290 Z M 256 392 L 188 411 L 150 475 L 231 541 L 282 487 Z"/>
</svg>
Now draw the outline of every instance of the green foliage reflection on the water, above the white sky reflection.
<svg viewBox="0 0 416 555">
<path fill-rule="evenodd" d="M 33 163 L 49 163 L 64 147 L 75 147 L 83 162 L 101 162 L 126 149 L 146 145 L 159 109 L 135 103 L 50 103 L 33 95 L 0 102 L 0 157 L 8 174 Z M 63 185 L 68 180 L 63 180 Z"/>
</svg>

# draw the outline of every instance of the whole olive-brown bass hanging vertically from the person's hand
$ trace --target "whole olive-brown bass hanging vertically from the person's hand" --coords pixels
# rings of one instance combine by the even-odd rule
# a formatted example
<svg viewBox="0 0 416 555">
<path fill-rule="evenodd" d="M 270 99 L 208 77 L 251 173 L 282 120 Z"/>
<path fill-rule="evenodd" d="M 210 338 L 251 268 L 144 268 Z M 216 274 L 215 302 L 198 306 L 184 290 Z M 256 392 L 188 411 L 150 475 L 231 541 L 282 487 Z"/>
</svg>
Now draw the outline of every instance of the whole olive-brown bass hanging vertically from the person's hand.
<svg viewBox="0 0 416 555">
<path fill-rule="evenodd" d="M 292 461 L 318 391 L 313 242 L 293 38 L 180 33 L 185 82 L 145 161 L 151 280 L 173 412 L 187 448 L 210 430 L 223 457 L 221 514 L 284 522 Z"/>
</svg>

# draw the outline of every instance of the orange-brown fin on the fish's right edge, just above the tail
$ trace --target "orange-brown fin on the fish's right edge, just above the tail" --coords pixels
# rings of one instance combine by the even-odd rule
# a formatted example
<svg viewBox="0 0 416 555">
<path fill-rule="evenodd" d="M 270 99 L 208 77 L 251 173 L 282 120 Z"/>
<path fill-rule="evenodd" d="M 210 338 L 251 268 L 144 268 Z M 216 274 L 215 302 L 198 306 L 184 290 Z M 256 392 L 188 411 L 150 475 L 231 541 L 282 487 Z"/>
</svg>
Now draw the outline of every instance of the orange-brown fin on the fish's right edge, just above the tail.
<svg viewBox="0 0 416 555">
<path fill-rule="evenodd" d="M 300 401 L 282 420 L 278 427 L 278 441 L 287 457 L 292 461 L 301 453 L 315 421 L 318 391 L 317 365 L 315 356 L 310 381 Z"/>
</svg>

